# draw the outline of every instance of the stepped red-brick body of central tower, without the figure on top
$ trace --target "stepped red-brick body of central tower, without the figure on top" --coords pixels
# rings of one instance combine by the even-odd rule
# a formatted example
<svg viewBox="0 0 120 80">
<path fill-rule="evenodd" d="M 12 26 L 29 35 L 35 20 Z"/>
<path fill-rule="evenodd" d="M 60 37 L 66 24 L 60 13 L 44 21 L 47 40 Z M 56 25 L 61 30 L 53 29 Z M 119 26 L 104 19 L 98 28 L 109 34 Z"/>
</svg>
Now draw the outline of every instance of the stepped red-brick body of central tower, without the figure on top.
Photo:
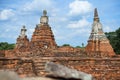
<svg viewBox="0 0 120 80">
<path fill-rule="evenodd" d="M 54 39 L 53 32 L 51 30 L 51 27 L 48 24 L 38 24 L 35 28 L 35 31 L 32 35 L 32 42 L 43 42 L 43 47 L 46 48 L 56 48 L 56 42 Z"/>
</svg>

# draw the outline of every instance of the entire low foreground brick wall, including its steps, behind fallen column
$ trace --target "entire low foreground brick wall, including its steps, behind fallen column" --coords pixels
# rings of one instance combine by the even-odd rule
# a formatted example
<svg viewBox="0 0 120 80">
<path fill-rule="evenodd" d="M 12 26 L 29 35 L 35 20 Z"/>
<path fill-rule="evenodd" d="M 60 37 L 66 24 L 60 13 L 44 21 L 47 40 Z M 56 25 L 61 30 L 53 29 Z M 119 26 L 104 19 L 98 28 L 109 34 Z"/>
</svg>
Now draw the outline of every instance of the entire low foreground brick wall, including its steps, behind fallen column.
<svg viewBox="0 0 120 80">
<path fill-rule="evenodd" d="M 120 79 L 120 57 L 102 59 L 90 57 L 0 58 L 0 69 L 16 71 L 21 77 L 44 76 L 47 74 L 44 69 L 47 61 L 92 74 L 96 80 Z"/>
</svg>

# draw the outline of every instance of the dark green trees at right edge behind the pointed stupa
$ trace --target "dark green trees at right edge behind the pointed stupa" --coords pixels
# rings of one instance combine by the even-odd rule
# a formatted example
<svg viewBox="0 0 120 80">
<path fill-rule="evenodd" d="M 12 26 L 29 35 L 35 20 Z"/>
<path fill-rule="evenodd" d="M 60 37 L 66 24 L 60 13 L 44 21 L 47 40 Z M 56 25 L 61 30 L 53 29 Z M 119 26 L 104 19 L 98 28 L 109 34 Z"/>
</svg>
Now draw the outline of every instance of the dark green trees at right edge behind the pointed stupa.
<svg viewBox="0 0 120 80">
<path fill-rule="evenodd" d="M 105 33 L 107 38 L 110 40 L 116 54 L 120 54 L 120 28 L 115 32 Z"/>
</svg>

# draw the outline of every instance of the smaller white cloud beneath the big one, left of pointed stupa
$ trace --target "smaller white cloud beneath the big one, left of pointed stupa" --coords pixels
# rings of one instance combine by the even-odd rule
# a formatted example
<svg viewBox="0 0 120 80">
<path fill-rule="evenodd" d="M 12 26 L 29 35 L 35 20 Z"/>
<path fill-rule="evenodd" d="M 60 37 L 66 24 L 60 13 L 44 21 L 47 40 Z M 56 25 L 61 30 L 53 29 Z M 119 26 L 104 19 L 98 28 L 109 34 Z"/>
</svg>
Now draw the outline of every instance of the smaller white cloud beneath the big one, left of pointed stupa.
<svg viewBox="0 0 120 80">
<path fill-rule="evenodd" d="M 68 24 L 68 28 L 84 28 L 90 26 L 90 22 L 88 22 L 85 18 L 80 19 L 79 21 L 73 21 Z"/>
</svg>

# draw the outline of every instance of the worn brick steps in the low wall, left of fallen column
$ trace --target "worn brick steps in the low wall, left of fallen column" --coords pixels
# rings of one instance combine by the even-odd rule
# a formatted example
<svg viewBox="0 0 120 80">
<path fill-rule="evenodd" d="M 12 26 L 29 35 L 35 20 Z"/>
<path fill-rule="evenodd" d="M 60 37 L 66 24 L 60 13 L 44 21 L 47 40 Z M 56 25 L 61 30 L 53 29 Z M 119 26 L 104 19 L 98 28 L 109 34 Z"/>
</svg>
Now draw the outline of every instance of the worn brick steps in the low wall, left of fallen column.
<svg viewBox="0 0 120 80">
<path fill-rule="evenodd" d="M 34 72 L 36 76 L 44 76 L 47 74 L 45 71 L 45 64 L 47 61 L 50 61 L 50 58 L 40 57 L 33 60 Z"/>
</svg>

